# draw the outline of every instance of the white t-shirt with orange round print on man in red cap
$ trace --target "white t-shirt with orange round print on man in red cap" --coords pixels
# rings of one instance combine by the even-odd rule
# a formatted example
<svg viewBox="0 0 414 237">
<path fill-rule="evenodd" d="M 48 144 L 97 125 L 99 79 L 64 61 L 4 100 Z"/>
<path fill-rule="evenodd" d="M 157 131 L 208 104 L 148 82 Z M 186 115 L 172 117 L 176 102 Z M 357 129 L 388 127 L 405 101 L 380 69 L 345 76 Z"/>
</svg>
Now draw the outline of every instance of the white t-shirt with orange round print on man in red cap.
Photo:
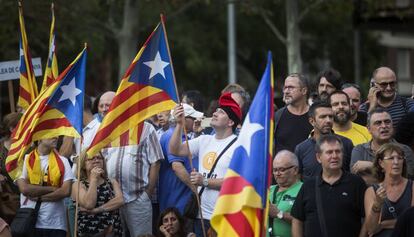
<svg viewBox="0 0 414 237">
<path fill-rule="evenodd" d="M 201 135 L 195 139 L 189 140 L 190 151 L 193 156 L 199 157 L 198 172 L 204 177 L 207 177 L 211 168 L 214 165 L 217 157 L 221 151 L 234 139 L 236 135 L 231 135 L 224 139 L 216 139 L 215 135 Z M 216 168 L 211 174 L 210 179 L 224 178 L 227 172 L 227 168 L 230 165 L 231 158 L 233 156 L 234 145 L 232 145 L 221 156 Z M 199 188 L 199 190 L 201 187 Z M 203 218 L 210 220 L 214 211 L 214 206 L 218 199 L 219 190 L 205 188 L 201 195 L 201 210 L 203 212 Z M 198 215 L 200 217 L 200 214 Z"/>
</svg>

